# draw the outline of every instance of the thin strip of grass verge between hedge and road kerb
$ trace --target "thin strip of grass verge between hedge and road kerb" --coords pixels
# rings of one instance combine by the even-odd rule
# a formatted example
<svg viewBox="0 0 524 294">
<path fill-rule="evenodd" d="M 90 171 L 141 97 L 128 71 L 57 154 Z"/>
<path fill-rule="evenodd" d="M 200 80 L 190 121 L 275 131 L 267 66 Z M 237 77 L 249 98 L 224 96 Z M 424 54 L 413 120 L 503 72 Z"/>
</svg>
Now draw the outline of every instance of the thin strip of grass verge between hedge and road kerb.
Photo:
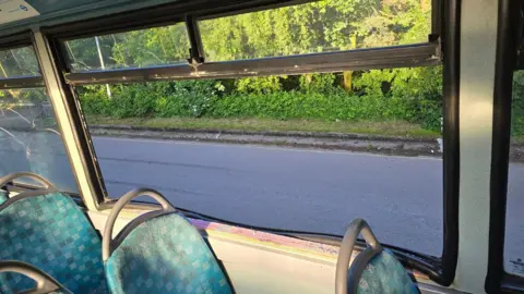
<svg viewBox="0 0 524 294">
<path fill-rule="evenodd" d="M 405 136 L 438 138 L 438 132 L 428 131 L 420 125 L 404 122 L 323 122 L 309 120 L 278 121 L 267 119 L 116 119 L 100 115 L 87 115 L 88 124 L 132 125 L 160 128 L 189 130 L 234 130 L 234 131 L 299 131 L 313 133 L 353 133 L 384 136 Z"/>
</svg>

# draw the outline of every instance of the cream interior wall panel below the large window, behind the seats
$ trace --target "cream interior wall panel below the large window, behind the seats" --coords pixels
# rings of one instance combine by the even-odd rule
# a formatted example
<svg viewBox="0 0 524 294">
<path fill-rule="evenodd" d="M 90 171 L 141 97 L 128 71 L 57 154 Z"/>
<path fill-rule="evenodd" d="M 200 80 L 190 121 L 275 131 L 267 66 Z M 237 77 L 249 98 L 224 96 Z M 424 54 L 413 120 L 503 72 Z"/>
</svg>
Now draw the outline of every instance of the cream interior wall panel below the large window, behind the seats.
<svg viewBox="0 0 524 294">
<path fill-rule="evenodd" d="M 144 210 L 122 210 L 114 235 Z M 104 230 L 108 211 L 90 211 L 93 224 Z M 318 256 L 228 240 L 206 234 L 237 293 L 334 293 L 336 255 Z M 354 253 L 355 255 L 357 252 Z M 355 257 L 355 256 L 354 256 Z M 421 293 L 457 293 L 419 279 Z"/>
</svg>

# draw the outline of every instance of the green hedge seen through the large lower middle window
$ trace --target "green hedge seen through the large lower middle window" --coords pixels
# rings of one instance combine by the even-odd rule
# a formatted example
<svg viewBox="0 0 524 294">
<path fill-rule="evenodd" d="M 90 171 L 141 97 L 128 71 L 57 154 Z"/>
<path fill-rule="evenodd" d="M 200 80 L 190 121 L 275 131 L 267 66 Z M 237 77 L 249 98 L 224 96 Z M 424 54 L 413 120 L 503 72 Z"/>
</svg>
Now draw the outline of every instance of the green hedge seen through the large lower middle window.
<svg viewBox="0 0 524 294">
<path fill-rule="evenodd" d="M 90 86 L 80 90 L 80 98 L 86 113 L 115 118 L 403 120 L 440 130 L 441 98 L 438 91 L 395 96 L 392 85 L 386 93 L 367 90 L 365 86 L 347 93 L 336 86 L 334 75 L 312 76 L 308 83 L 301 77 L 294 78 L 297 85 L 287 85 L 287 89 L 269 85 L 290 83 L 291 78 L 287 77 L 114 85 L 111 98 L 107 97 L 104 86 Z"/>
</svg>

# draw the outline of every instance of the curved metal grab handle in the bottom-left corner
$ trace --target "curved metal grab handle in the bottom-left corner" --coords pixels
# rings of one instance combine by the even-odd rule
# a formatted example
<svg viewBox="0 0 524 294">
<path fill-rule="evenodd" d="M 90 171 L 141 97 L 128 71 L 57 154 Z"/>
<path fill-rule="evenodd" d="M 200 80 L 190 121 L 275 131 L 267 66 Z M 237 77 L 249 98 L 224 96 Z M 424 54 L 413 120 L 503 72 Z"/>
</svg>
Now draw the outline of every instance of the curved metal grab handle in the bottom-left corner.
<svg viewBox="0 0 524 294">
<path fill-rule="evenodd" d="M 32 265 L 22 261 L 1 261 L 0 272 L 16 272 L 33 279 L 36 282 L 36 287 L 23 293 L 44 294 L 57 290 L 66 291 L 66 289 L 60 285 L 59 282 L 49 277 L 47 273 L 36 267 L 33 267 Z"/>
</svg>

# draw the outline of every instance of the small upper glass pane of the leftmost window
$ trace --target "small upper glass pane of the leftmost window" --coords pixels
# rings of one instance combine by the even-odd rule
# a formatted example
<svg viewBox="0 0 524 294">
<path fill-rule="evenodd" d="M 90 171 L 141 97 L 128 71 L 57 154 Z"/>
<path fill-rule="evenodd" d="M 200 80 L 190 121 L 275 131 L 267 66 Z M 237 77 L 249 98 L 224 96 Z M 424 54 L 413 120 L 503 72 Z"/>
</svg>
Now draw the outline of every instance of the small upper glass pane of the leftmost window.
<svg viewBox="0 0 524 294">
<path fill-rule="evenodd" d="M 33 47 L 0 50 L 0 78 L 40 75 Z"/>
</svg>

